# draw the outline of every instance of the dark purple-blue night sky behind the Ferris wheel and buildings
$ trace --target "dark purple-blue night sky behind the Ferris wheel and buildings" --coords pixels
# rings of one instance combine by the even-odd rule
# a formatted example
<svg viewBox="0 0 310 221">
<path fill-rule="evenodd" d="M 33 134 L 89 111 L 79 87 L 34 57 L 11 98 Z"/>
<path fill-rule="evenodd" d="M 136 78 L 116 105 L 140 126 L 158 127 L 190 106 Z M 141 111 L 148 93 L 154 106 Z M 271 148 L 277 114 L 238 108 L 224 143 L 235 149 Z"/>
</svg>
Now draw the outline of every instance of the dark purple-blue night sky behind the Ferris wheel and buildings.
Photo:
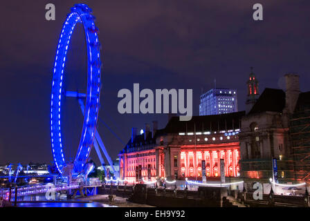
<svg viewBox="0 0 310 221">
<path fill-rule="evenodd" d="M 300 75 L 310 90 L 310 1 L 260 0 L 264 21 L 253 20 L 250 0 L 202 1 L 1 1 L 0 14 L 0 164 L 52 162 L 50 97 L 52 68 L 62 23 L 74 3 L 87 3 L 97 17 L 102 44 L 100 118 L 127 143 L 131 127 L 143 128 L 166 115 L 120 115 L 118 90 L 192 88 L 193 113 L 199 95 L 214 86 L 238 91 L 245 109 L 250 66 L 264 88 L 284 88 L 283 76 Z M 54 3 L 56 20 L 46 21 Z M 86 50 L 77 26 L 66 62 L 67 90 L 85 90 Z M 62 125 L 68 159 L 78 149 L 82 113 L 66 98 Z M 116 158 L 124 147 L 99 122 L 98 131 Z M 95 152 L 94 149 L 92 151 Z M 97 161 L 95 154 L 91 155 Z"/>
</svg>

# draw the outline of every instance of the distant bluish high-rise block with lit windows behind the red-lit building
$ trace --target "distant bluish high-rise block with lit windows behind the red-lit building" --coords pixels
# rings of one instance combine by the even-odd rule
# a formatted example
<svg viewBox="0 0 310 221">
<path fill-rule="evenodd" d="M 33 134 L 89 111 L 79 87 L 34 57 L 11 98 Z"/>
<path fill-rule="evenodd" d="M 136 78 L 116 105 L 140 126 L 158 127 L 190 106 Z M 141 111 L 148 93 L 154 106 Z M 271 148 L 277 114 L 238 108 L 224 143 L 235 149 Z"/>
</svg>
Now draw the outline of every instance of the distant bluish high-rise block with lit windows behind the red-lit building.
<svg viewBox="0 0 310 221">
<path fill-rule="evenodd" d="M 200 96 L 200 116 L 219 115 L 237 111 L 237 90 L 215 88 Z"/>
</svg>

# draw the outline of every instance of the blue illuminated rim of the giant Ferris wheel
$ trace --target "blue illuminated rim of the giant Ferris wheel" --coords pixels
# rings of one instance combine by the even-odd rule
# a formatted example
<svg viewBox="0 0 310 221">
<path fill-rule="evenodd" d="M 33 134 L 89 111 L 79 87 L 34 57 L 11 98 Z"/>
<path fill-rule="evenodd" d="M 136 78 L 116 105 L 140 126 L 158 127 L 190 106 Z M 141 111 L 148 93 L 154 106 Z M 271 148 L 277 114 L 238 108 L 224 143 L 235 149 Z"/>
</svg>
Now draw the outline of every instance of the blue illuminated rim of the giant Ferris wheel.
<svg viewBox="0 0 310 221">
<path fill-rule="evenodd" d="M 76 4 L 73 8 L 71 8 L 71 13 L 67 16 L 66 21 L 62 27 L 53 69 L 53 84 L 51 95 L 51 144 L 53 158 L 55 165 L 57 166 L 57 170 L 60 173 L 63 173 L 63 169 L 66 166 L 66 161 L 64 158 L 62 145 L 60 112 L 64 66 L 71 35 L 75 25 L 79 22 L 82 23 L 84 27 L 84 34 L 86 39 L 87 90 L 82 135 L 80 137 L 78 153 L 76 154 L 73 163 L 73 175 L 78 175 L 82 172 L 84 165 L 89 158 L 89 153 L 91 152 L 91 146 L 93 146 L 93 139 L 98 120 L 100 100 L 101 62 L 98 28 L 95 26 L 95 17 L 92 15 L 91 8 L 85 4 Z"/>
</svg>

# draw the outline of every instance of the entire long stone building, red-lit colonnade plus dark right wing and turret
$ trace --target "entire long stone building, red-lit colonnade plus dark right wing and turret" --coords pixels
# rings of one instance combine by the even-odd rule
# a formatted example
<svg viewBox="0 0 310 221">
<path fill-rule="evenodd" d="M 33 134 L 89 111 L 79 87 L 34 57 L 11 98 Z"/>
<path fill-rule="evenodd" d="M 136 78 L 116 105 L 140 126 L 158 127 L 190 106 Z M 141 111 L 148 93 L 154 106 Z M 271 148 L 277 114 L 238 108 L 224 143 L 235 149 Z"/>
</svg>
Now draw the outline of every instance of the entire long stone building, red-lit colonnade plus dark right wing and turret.
<svg viewBox="0 0 310 221">
<path fill-rule="evenodd" d="M 212 180 L 221 175 L 224 159 L 225 176 L 243 180 L 247 191 L 259 182 L 264 193 L 273 188 L 284 194 L 276 183 L 310 182 L 310 92 L 300 93 L 298 75 L 287 74 L 285 80 L 285 90 L 265 88 L 257 97 L 258 81 L 250 73 L 248 112 L 194 116 L 188 122 L 172 117 L 161 130 L 157 122 L 152 131 L 146 124 L 143 135 L 133 128 L 119 155 L 120 177 L 129 182 L 202 180 L 204 160 L 207 180 Z"/>
</svg>

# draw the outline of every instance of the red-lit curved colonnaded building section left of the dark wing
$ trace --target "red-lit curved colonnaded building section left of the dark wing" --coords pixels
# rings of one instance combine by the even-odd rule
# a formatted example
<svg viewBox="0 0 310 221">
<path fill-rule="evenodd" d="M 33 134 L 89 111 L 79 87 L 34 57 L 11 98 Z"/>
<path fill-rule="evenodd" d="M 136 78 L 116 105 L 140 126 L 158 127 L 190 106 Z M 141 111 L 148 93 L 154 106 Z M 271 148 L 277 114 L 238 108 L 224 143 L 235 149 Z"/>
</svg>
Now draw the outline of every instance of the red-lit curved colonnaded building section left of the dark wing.
<svg viewBox="0 0 310 221">
<path fill-rule="evenodd" d="M 206 177 L 219 177 L 219 161 L 225 160 L 226 177 L 239 176 L 239 131 L 245 112 L 194 116 L 188 122 L 172 117 L 158 130 L 153 122 L 137 135 L 132 128 L 131 140 L 120 152 L 120 177 L 129 182 L 155 180 L 201 180 L 201 161 L 206 160 Z"/>
</svg>

